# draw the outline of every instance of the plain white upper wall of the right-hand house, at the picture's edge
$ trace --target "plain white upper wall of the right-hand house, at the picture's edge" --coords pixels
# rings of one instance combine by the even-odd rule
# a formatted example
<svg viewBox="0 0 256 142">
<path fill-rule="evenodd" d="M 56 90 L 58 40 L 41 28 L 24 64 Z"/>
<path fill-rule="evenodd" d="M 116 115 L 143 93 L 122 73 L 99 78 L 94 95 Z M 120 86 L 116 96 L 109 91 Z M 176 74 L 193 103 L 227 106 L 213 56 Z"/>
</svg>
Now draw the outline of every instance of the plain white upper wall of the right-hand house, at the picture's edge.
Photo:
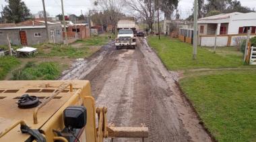
<svg viewBox="0 0 256 142">
<path fill-rule="evenodd" d="M 256 12 L 232 15 L 228 26 L 228 34 L 238 34 L 239 27 L 256 26 Z"/>
</svg>

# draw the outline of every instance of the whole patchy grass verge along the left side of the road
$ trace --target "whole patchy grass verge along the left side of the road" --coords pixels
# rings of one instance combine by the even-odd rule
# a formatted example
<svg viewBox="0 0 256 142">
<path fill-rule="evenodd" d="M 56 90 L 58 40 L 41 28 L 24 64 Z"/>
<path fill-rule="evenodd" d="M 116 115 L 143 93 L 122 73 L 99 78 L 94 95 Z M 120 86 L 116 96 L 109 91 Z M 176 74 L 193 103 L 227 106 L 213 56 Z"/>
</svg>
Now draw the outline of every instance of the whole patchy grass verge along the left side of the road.
<svg viewBox="0 0 256 142">
<path fill-rule="evenodd" d="M 29 58 L 0 57 L 0 80 L 55 80 L 77 58 L 88 58 L 109 41 L 109 34 L 64 44 L 37 44 L 38 54 Z M 7 49 L 7 46 L 1 46 Z M 13 49 L 20 46 L 11 46 Z"/>
</svg>

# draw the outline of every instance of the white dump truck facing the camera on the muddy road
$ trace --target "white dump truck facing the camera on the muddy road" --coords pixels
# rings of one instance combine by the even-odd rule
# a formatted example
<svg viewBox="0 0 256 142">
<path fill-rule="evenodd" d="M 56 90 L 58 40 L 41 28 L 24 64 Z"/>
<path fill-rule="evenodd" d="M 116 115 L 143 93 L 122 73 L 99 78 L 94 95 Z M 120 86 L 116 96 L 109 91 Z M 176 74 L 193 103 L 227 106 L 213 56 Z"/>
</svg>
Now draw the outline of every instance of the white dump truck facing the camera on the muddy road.
<svg viewBox="0 0 256 142">
<path fill-rule="evenodd" d="M 122 17 L 117 23 L 118 35 L 115 40 L 117 50 L 124 46 L 135 49 L 136 47 L 136 27 L 134 17 Z"/>
</svg>

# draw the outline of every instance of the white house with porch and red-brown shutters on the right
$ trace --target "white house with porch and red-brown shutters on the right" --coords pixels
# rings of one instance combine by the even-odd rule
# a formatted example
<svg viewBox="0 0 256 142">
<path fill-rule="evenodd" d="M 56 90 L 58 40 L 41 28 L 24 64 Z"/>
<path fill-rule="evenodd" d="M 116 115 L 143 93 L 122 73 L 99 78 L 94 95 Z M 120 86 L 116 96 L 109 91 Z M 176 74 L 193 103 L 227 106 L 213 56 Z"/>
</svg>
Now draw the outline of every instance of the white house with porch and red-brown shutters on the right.
<svg viewBox="0 0 256 142">
<path fill-rule="evenodd" d="M 251 37 L 256 36 L 256 12 L 203 17 L 198 20 L 199 43 L 201 46 L 214 46 L 217 32 L 217 46 L 236 46 L 236 38 L 246 37 L 249 29 Z"/>
</svg>

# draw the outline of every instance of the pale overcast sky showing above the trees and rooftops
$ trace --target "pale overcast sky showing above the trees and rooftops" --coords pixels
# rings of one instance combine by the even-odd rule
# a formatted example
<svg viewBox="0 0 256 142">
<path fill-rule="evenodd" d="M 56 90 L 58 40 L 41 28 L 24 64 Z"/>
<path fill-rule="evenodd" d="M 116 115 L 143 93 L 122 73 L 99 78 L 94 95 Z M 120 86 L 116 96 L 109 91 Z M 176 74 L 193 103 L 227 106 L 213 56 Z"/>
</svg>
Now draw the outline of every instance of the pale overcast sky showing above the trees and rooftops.
<svg viewBox="0 0 256 142">
<path fill-rule="evenodd" d="M 42 10 L 42 0 L 22 0 L 25 1 L 26 5 L 30 9 L 31 13 L 37 13 Z M 61 0 L 44 0 L 46 5 L 46 11 L 50 13 L 51 16 L 58 15 L 61 13 Z M 63 0 L 64 11 L 66 14 L 76 14 L 80 15 L 81 10 L 83 13 L 88 13 L 89 9 L 95 9 L 92 7 L 94 0 Z M 242 5 L 255 8 L 256 0 L 240 0 Z M 5 6 L 5 0 L 0 0 L 1 5 Z M 185 18 L 191 15 L 193 7 L 193 0 L 180 0 L 179 11 L 181 12 L 181 17 Z M 1 8 L 0 8 L 1 9 Z M 2 9 L 0 10 L 2 11 Z"/>
</svg>

